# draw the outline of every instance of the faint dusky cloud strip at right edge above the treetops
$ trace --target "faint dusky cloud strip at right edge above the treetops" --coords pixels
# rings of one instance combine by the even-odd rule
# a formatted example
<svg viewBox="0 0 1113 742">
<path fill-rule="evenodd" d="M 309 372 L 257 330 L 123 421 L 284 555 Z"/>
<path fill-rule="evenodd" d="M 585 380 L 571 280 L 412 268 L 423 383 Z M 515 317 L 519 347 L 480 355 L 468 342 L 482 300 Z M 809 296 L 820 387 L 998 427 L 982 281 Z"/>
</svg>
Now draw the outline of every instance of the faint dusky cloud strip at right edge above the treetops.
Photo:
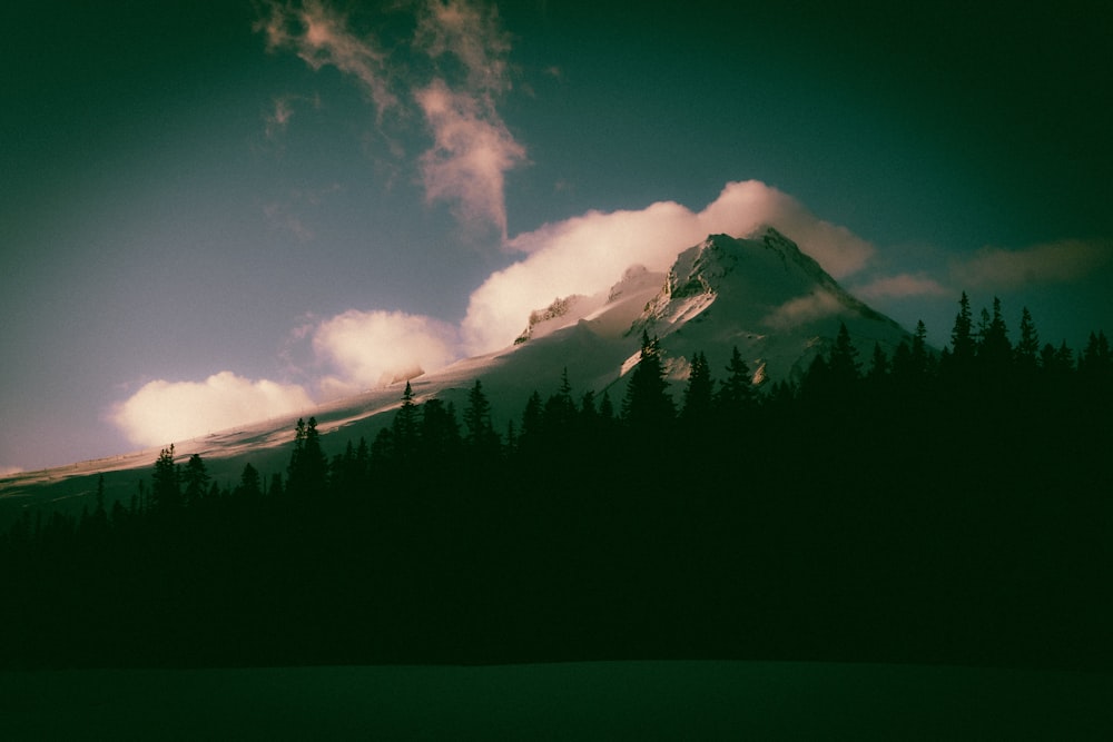
<svg viewBox="0 0 1113 742">
<path fill-rule="evenodd" d="M 951 271 L 967 288 L 1016 288 L 1077 280 L 1111 263 L 1113 241 L 1065 239 L 1020 250 L 983 247 Z"/>
</svg>

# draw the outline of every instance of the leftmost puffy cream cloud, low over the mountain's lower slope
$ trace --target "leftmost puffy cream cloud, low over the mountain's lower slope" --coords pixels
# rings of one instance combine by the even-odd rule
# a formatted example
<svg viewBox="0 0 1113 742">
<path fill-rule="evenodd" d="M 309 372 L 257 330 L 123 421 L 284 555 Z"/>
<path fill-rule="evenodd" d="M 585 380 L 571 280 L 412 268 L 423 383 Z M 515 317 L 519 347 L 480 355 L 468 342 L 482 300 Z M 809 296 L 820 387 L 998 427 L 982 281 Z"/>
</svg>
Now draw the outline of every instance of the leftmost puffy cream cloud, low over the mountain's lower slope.
<svg viewBox="0 0 1113 742">
<path fill-rule="evenodd" d="M 110 419 L 139 446 L 160 446 L 313 405 L 305 389 L 220 372 L 204 382 L 155 380 L 118 404 Z"/>
</svg>

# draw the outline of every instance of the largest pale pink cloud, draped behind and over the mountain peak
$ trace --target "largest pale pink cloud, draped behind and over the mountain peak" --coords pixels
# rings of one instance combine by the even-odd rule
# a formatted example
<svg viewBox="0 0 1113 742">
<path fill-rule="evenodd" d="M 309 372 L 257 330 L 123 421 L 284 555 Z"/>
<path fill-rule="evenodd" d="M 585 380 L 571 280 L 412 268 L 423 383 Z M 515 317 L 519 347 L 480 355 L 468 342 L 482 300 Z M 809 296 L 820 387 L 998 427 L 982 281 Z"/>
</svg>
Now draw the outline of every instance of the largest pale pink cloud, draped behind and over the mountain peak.
<svg viewBox="0 0 1113 742">
<path fill-rule="evenodd" d="M 632 264 L 667 270 L 680 250 L 709 234 L 743 236 L 774 225 L 833 276 L 859 270 L 874 248 L 845 227 L 824 221 L 776 188 L 728 184 L 702 211 L 660 201 L 639 211 L 589 211 L 509 240 L 526 257 L 490 276 L 471 296 L 462 334 L 469 353 L 509 345 L 539 297 L 592 295 Z"/>
</svg>

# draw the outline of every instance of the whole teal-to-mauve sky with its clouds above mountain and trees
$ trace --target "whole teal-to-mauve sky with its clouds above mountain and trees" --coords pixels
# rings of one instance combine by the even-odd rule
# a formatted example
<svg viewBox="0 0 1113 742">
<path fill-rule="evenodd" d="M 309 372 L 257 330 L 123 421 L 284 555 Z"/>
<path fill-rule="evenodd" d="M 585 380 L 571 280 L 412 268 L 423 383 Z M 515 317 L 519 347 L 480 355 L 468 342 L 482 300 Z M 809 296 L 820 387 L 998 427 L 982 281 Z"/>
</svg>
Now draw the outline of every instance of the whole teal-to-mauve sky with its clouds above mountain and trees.
<svg viewBox="0 0 1113 742">
<path fill-rule="evenodd" d="M 963 289 L 1113 330 L 1104 3 L 4 4 L 0 472 L 493 349 L 762 220 L 939 347 Z"/>
</svg>

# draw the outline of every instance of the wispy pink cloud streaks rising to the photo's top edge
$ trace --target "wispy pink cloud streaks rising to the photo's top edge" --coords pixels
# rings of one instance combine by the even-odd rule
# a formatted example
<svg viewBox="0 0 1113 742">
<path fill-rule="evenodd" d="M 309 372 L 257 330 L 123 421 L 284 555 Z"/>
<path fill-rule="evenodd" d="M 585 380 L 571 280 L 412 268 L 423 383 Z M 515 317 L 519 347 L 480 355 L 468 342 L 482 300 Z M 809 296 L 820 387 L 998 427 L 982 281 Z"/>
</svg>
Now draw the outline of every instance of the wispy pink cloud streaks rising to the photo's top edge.
<svg viewBox="0 0 1113 742">
<path fill-rule="evenodd" d="M 426 201 L 449 204 L 465 227 L 493 227 L 505 240 L 505 176 L 526 161 L 498 110 L 511 88 L 510 38 L 493 8 L 464 0 L 427 0 L 415 22 L 413 37 L 391 51 L 321 0 L 272 3 L 257 29 L 268 50 L 293 50 L 315 70 L 331 66 L 357 80 L 384 136 L 420 117 L 433 140 L 416 162 Z M 387 123 L 391 111 L 397 116 Z M 288 118 L 276 103 L 268 132 Z"/>
</svg>

